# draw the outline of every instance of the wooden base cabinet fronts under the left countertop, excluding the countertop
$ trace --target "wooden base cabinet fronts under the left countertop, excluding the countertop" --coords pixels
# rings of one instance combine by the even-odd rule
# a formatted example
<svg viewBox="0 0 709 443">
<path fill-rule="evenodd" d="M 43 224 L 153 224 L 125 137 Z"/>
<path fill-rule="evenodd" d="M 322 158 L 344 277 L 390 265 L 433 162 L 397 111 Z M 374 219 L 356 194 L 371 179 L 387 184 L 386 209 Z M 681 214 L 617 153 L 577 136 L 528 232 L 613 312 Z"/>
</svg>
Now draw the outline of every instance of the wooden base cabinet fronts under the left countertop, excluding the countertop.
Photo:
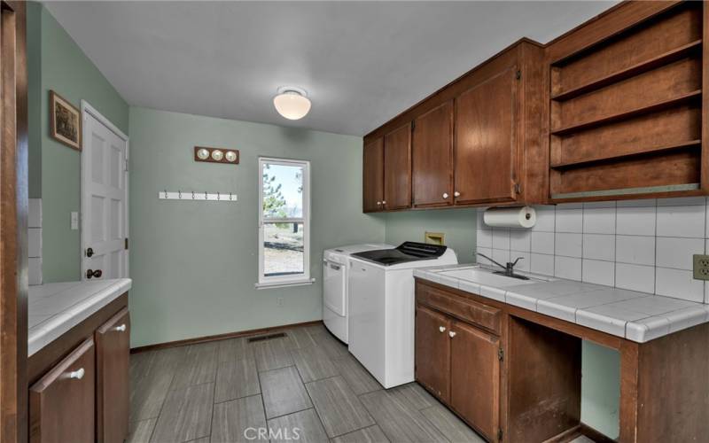
<svg viewBox="0 0 709 443">
<path fill-rule="evenodd" d="M 124 441 L 129 358 L 125 293 L 30 356 L 29 441 Z"/>
</svg>

